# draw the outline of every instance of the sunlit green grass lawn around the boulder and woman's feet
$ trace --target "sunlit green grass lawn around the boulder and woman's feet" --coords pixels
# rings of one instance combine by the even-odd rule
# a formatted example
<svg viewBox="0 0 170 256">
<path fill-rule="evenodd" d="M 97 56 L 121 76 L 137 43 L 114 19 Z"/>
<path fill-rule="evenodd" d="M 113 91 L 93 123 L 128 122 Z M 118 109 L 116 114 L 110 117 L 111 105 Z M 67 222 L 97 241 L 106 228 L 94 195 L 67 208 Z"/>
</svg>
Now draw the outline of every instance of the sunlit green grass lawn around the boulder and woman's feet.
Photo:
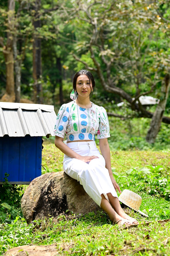
<svg viewBox="0 0 170 256">
<path fill-rule="evenodd" d="M 50 140 L 45 140 L 43 145 L 42 165 L 45 169 L 42 168 L 42 174 L 61 171 L 63 154 Z M 9 209 L 1 207 L 8 214 L 0 223 L 0 255 L 21 245 L 55 243 L 56 255 L 60 256 L 170 256 L 170 222 L 159 222 L 170 216 L 167 192 L 170 152 L 120 150 L 112 151 L 111 158 L 113 173 L 121 190 L 133 190 L 143 199 L 140 210 L 148 213 L 148 218 L 126 209 L 139 220 L 141 224 L 138 227 L 119 230 L 103 211 L 60 215 L 55 223 L 49 217 L 27 224 L 19 207 L 18 214 L 13 216 Z M 7 203 L 10 205 L 10 202 Z M 144 225 L 143 220 L 150 223 Z"/>
</svg>

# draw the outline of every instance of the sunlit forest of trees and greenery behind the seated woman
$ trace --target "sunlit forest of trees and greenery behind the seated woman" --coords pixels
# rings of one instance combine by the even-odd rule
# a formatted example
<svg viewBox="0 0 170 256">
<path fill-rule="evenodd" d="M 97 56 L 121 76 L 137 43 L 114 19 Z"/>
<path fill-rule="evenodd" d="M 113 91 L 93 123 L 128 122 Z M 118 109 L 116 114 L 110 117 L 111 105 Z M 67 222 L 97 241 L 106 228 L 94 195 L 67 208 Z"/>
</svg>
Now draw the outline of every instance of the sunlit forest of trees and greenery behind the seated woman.
<svg viewBox="0 0 170 256">
<path fill-rule="evenodd" d="M 74 73 L 86 68 L 96 80 L 93 102 L 107 109 L 114 147 L 165 149 L 169 17 L 163 0 L 1 0 L 0 100 L 53 104 L 57 113 L 70 101 Z M 143 96 L 157 104 L 143 105 Z"/>
</svg>

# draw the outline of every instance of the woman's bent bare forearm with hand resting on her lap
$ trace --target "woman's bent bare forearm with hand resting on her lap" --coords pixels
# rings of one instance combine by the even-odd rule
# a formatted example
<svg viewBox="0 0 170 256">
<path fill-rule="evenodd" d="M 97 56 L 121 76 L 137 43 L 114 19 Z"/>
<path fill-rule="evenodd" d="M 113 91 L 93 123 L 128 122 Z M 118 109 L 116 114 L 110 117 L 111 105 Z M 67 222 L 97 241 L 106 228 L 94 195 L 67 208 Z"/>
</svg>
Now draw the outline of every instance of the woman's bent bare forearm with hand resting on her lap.
<svg viewBox="0 0 170 256">
<path fill-rule="evenodd" d="M 67 145 L 63 142 L 63 138 L 56 136 L 55 137 L 55 146 L 61 150 L 65 155 L 71 157 L 71 158 L 76 158 L 79 159 L 83 162 L 89 162 L 94 158 L 98 158 L 97 156 L 81 156 L 74 152 L 71 148 L 67 147 Z"/>
</svg>

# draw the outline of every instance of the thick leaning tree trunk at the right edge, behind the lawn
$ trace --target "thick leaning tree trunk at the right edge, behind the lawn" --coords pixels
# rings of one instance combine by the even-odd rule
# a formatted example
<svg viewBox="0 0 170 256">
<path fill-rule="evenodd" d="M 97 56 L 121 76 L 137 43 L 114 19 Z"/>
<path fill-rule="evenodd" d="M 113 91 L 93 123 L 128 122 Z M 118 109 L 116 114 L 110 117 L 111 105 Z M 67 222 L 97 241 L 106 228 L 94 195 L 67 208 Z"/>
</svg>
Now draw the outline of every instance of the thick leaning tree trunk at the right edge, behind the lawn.
<svg viewBox="0 0 170 256">
<path fill-rule="evenodd" d="M 148 134 L 146 136 L 146 140 L 151 144 L 155 142 L 155 139 L 156 139 L 159 129 L 161 127 L 162 117 L 163 117 L 163 113 L 165 111 L 169 89 L 170 89 L 170 75 L 167 74 L 165 76 L 165 79 L 164 79 L 164 82 L 163 82 L 163 85 L 161 88 L 161 96 L 162 97 L 160 99 L 159 104 L 157 105 L 156 111 L 154 112 L 152 121 L 150 123 L 150 128 L 149 128 Z"/>
</svg>

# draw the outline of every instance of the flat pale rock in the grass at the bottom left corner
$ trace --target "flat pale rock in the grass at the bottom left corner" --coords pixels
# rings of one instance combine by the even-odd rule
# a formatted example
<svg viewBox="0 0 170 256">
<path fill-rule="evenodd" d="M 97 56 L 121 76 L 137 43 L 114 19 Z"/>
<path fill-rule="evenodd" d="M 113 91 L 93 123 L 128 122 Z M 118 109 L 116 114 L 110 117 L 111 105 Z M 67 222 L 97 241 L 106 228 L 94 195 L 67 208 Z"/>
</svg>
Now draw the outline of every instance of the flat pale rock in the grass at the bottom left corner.
<svg viewBox="0 0 170 256">
<path fill-rule="evenodd" d="M 56 256 L 56 245 L 23 245 L 9 249 L 4 256 Z"/>
</svg>

